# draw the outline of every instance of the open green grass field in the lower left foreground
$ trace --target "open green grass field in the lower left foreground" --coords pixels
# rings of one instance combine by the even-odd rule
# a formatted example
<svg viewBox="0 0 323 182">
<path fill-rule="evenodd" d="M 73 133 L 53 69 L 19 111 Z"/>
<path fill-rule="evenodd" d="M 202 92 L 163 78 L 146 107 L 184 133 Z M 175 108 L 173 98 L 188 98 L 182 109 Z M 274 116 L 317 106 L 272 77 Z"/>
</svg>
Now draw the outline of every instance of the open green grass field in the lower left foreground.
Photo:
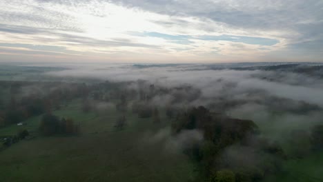
<svg viewBox="0 0 323 182">
<path fill-rule="evenodd" d="M 83 113 L 79 101 L 53 112 L 80 123 L 77 136 L 43 137 L 37 134 L 40 117 L 19 127 L 11 125 L 0 135 L 28 129 L 34 139 L 19 141 L 0 152 L 0 181 L 188 181 L 193 163 L 181 152 L 165 150 L 163 143 L 147 143 L 148 131 L 159 130 L 150 119 L 127 113 L 128 126 L 113 127 L 117 113 Z"/>
</svg>

